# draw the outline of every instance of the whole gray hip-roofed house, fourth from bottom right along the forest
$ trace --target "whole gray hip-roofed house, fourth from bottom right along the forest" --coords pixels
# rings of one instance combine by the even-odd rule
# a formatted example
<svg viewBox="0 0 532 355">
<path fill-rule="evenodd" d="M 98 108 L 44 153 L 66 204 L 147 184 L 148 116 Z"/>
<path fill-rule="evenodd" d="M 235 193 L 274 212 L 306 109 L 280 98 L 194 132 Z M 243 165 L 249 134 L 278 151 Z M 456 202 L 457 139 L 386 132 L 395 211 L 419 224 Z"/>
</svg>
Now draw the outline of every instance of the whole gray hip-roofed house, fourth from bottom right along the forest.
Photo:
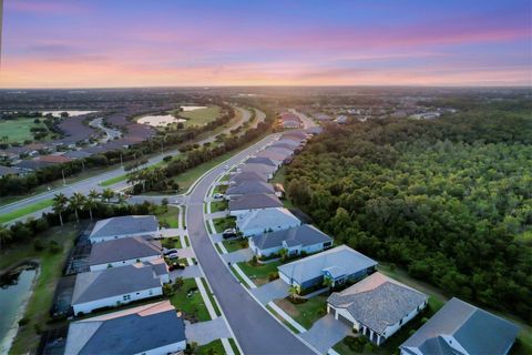
<svg viewBox="0 0 532 355">
<path fill-rule="evenodd" d="M 287 250 L 288 255 L 321 252 L 332 245 L 332 239 L 310 224 L 289 230 L 254 235 L 249 248 L 257 256 L 270 256 Z"/>
</svg>

